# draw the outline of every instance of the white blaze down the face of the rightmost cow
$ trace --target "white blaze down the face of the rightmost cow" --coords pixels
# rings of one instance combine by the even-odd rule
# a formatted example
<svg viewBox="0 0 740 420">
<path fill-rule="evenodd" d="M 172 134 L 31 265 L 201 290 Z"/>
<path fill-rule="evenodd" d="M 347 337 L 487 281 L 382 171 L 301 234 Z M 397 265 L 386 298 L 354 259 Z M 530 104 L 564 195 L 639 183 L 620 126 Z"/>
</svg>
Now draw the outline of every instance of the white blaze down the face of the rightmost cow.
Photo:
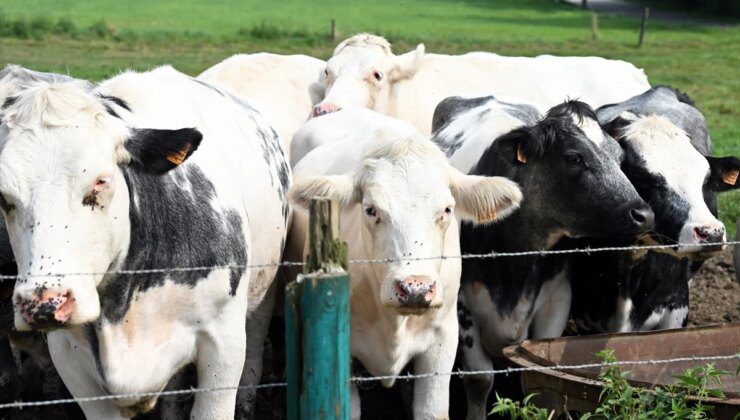
<svg viewBox="0 0 740 420">
<path fill-rule="evenodd" d="M 691 145 L 686 133 L 665 117 L 658 115 L 634 119 L 624 131 L 625 139 L 645 161 L 646 169 L 662 176 L 667 187 L 689 205 L 688 219 L 679 235 L 678 252 L 694 252 L 700 247 L 694 229 L 720 229 L 724 225 L 709 211 L 704 202 L 703 185 L 709 174 L 709 163 Z M 724 241 L 724 237 L 723 237 Z"/>
</svg>

